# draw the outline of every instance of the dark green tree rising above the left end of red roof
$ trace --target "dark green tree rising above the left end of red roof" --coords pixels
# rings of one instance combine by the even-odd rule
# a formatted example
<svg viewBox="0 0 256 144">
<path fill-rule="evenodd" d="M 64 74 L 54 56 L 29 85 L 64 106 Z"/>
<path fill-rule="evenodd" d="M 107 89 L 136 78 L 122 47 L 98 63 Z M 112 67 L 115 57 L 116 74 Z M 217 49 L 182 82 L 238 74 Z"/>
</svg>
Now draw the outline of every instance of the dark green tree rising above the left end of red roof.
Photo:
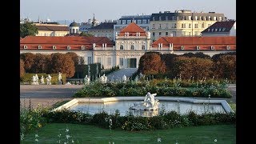
<svg viewBox="0 0 256 144">
<path fill-rule="evenodd" d="M 34 26 L 33 22 L 25 22 L 20 24 L 19 31 L 20 37 L 22 38 L 25 38 L 27 35 L 38 34 L 38 28 Z"/>
</svg>

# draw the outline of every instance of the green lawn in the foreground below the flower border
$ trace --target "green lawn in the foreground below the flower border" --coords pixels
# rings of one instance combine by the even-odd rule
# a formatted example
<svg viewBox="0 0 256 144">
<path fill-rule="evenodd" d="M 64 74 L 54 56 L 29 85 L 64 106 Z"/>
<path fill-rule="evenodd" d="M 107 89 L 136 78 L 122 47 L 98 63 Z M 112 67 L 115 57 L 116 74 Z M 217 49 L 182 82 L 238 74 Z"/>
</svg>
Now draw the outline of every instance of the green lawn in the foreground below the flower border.
<svg viewBox="0 0 256 144">
<path fill-rule="evenodd" d="M 106 130 L 97 126 L 50 123 L 38 130 L 38 143 L 56 143 L 58 134 L 62 134 L 62 142 L 66 135 L 66 127 L 70 130 L 70 136 L 74 138 L 75 143 L 104 143 L 107 144 L 112 140 L 115 144 L 119 143 L 189 143 L 189 144 L 206 144 L 206 143 L 236 143 L 236 126 L 235 125 L 214 125 L 214 126 L 193 126 L 184 128 L 174 128 L 169 130 L 154 131 L 124 131 L 124 130 Z M 24 143 L 35 143 L 34 134 L 31 132 L 25 135 Z M 214 142 L 214 139 L 217 142 Z M 70 143 L 70 142 L 69 142 Z"/>
</svg>

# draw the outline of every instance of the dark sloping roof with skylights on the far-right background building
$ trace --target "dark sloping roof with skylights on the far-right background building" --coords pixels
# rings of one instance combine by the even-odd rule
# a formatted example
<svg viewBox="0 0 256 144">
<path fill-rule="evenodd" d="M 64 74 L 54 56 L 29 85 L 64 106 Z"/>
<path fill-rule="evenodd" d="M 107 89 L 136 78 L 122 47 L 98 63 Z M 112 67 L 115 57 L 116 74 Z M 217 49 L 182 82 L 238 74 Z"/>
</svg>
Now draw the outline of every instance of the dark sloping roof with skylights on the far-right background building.
<svg viewBox="0 0 256 144">
<path fill-rule="evenodd" d="M 232 26 L 234 26 L 234 22 L 235 21 L 215 22 L 213 25 L 209 26 L 206 30 L 203 30 L 202 33 L 230 32 Z"/>
</svg>

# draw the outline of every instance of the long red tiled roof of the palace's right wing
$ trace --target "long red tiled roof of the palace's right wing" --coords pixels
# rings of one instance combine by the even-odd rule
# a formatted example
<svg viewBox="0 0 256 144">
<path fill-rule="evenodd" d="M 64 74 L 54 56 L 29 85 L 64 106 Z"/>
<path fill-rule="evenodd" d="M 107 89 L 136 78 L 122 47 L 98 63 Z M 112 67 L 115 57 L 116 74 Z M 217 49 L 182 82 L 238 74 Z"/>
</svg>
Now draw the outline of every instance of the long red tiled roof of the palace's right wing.
<svg viewBox="0 0 256 144">
<path fill-rule="evenodd" d="M 162 43 L 162 48 L 169 48 L 173 43 L 174 50 L 196 50 L 196 46 L 200 46 L 200 50 L 210 50 L 210 46 L 214 46 L 214 50 L 226 50 L 226 46 L 230 46 L 230 50 L 236 50 L 236 37 L 161 37 L 152 43 L 152 47 L 158 47 L 158 43 Z"/>
</svg>

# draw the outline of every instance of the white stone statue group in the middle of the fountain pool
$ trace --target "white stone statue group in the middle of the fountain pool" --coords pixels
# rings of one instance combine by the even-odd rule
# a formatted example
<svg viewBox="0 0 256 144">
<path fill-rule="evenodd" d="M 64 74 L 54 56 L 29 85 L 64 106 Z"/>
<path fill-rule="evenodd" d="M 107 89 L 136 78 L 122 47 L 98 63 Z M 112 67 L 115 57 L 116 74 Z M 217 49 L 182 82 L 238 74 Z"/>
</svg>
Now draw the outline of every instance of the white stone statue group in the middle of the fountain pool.
<svg viewBox="0 0 256 144">
<path fill-rule="evenodd" d="M 156 95 L 147 92 L 144 101 L 134 103 L 134 106 L 131 106 L 130 110 L 158 110 L 159 100 L 154 99 Z"/>
</svg>

